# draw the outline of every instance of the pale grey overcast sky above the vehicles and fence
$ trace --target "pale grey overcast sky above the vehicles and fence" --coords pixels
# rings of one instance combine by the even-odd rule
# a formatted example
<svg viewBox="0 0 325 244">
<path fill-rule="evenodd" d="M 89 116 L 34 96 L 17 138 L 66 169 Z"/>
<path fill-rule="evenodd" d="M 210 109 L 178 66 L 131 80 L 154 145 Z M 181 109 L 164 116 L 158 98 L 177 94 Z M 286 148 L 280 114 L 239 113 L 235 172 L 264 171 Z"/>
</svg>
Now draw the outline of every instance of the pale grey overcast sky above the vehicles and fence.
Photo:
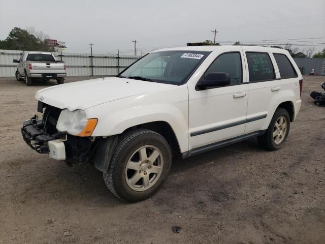
<svg viewBox="0 0 325 244">
<path fill-rule="evenodd" d="M 0 0 L 0 39 L 15 26 L 65 41 L 66 52 L 89 52 L 91 42 L 94 53 L 132 53 L 135 39 L 138 50 L 180 46 L 213 40 L 215 28 L 224 44 L 267 40 L 321 50 L 325 44 L 314 43 L 325 43 L 325 1 Z M 298 38 L 323 39 L 277 40 Z"/>
</svg>

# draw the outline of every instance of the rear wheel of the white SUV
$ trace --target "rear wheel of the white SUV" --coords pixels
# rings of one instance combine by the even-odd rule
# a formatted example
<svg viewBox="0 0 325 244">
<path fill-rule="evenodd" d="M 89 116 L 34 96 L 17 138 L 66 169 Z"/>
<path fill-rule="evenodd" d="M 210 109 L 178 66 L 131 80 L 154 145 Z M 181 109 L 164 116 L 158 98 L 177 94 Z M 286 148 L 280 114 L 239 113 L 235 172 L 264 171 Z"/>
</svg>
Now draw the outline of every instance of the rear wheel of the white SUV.
<svg viewBox="0 0 325 244">
<path fill-rule="evenodd" d="M 271 120 L 268 130 L 264 135 L 258 136 L 259 145 L 274 151 L 279 149 L 288 137 L 290 130 L 290 117 L 284 108 L 278 108 Z"/>
</svg>

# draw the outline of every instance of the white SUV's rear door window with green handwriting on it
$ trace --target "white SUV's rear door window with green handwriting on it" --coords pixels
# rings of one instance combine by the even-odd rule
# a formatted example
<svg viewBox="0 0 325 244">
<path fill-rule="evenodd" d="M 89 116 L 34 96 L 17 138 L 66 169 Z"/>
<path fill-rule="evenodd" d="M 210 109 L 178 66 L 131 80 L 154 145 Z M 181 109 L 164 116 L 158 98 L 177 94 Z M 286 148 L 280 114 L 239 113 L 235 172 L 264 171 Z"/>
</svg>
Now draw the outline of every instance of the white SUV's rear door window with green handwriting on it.
<svg viewBox="0 0 325 244">
<path fill-rule="evenodd" d="M 272 80 L 275 78 L 271 58 L 266 52 L 246 52 L 249 81 Z"/>
</svg>

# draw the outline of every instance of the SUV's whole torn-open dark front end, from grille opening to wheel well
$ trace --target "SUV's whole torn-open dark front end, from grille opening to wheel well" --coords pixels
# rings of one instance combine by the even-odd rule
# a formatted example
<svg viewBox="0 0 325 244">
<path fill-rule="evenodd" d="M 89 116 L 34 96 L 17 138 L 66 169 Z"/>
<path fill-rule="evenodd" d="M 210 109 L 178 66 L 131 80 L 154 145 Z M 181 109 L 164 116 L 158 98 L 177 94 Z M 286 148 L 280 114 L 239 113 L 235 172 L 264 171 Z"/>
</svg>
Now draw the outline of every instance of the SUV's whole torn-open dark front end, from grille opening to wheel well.
<svg viewBox="0 0 325 244">
<path fill-rule="evenodd" d="M 45 110 L 44 110 L 45 109 Z M 83 164 L 91 161 L 100 138 L 79 137 L 59 132 L 56 129 L 61 109 L 39 101 L 37 115 L 24 121 L 21 134 L 24 141 L 40 154 L 49 154 L 55 160 L 64 160 L 68 164 Z"/>
</svg>

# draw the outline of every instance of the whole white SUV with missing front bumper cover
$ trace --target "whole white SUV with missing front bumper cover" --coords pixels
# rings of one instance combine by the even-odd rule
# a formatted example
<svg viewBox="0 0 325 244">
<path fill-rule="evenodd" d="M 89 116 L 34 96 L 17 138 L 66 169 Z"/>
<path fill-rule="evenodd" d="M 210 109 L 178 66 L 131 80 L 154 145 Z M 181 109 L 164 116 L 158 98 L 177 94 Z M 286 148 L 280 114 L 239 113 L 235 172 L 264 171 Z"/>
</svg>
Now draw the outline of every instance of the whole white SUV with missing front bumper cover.
<svg viewBox="0 0 325 244">
<path fill-rule="evenodd" d="M 285 142 L 302 75 L 283 49 L 191 46 L 153 51 L 116 77 L 39 90 L 26 143 L 67 163 L 92 163 L 120 199 L 144 200 L 183 158 L 257 137 Z"/>
</svg>

